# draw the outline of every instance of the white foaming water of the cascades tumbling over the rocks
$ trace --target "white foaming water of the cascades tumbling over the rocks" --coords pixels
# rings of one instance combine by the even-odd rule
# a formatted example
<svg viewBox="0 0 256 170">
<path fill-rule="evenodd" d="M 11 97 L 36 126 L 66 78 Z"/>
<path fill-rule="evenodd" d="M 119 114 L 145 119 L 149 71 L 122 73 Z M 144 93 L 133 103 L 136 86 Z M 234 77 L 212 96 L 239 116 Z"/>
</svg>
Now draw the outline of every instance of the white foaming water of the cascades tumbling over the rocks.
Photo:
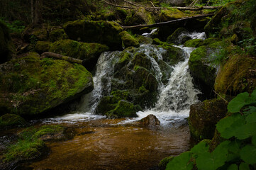
<svg viewBox="0 0 256 170">
<path fill-rule="evenodd" d="M 179 36 L 182 37 L 183 34 Z M 205 33 L 191 33 L 191 38 L 205 39 Z M 180 38 L 181 39 L 181 38 Z M 156 60 L 162 60 L 162 54 L 165 50 L 157 48 L 154 45 L 141 45 L 138 52 L 143 52 L 150 59 L 152 63 L 152 70 L 155 72 L 155 77 L 159 82 L 158 89 L 160 91 L 159 98 L 155 108 L 150 108 L 146 111 L 139 111 L 138 118 L 126 119 L 120 124 L 133 123 L 137 120 L 145 118 L 149 114 L 155 115 L 161 125 L 172 125 L 177 122 L 183 121 L 189 117 L 189 107 L 191 104 L 198 102 L 197 94 L 200 93 L 194 89 L 192 84 L 192 77 L 189 74 L 189 57 L 190 53 L 194 50 L 191 47 L 182 47 L 184 51 L 185 60 L 173 66 L 172 74 L 169 77 L 167 85 L 162 84 L 162 73 Z M 119 52 L 104 52 L 99 57 L 96 65 L 96 74 L 94 76 L 94 90 L 84 96 L 82 106 L 79 113 L 72 113 L 55 118 L 45 120 L 45 122 L 67 122 L 76 123 L 77 121 L 89 121 L 95 119 L 105 118 L 102 115 L 94 115 L 96 106 L 98 105 L 102 96 L 106 96 L 111 90 L 111 79 L 113 78 L 113 64 L 116 62 L 115 57 Z M 153 56 L 157 56 L 155 59 Z"/>
</svg>

